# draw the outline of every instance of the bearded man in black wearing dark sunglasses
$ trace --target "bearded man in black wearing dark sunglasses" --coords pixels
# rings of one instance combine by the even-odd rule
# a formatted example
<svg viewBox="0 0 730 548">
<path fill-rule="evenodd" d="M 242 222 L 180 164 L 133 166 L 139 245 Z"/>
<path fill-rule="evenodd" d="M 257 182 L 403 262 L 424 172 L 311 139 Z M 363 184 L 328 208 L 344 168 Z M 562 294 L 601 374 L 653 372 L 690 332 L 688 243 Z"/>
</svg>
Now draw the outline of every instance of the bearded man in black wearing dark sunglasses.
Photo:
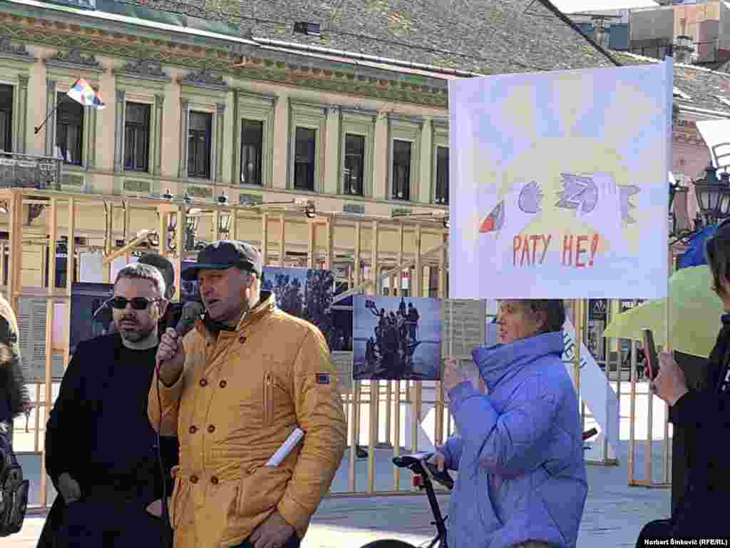
<svg viewBox="0 0 730 548">
<path fill-rule="evenodd" d="M 46 471 L 58 490 L 39 547 L 170 546 L 155 516 L 172 492 L 177 438 L 157 438 L 147 419 L 165 282 L 149 265 L 117 275 L 117 332 L 77 346 L 46 427 Z"/>
</svg>

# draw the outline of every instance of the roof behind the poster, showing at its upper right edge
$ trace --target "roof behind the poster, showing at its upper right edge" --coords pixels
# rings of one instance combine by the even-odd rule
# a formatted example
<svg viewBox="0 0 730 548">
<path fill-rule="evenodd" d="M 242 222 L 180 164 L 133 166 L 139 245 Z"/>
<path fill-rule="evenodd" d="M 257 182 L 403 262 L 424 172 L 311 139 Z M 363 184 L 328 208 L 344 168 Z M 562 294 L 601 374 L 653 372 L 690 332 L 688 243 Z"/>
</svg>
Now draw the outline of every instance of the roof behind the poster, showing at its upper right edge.
<svg viewBox="0 0 730 548">
<path fill-rule="evenodd" d="M 614 52 L 623 64 L 658 63 L 658 59 Z M 680 109 L 730 117 L 730 74 L 703 66 L 675 63 L 675 104 Z"/>
</svg>

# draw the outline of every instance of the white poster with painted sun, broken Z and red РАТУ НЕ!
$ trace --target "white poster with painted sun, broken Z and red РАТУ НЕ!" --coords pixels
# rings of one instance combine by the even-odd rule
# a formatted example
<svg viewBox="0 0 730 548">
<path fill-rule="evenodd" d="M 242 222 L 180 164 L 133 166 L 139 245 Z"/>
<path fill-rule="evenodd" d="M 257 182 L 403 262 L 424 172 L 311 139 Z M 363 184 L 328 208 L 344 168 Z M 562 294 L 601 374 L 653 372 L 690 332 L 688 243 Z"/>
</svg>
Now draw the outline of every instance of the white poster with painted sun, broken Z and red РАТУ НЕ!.
<svg viewBox="0 0 730 548">
<path fill-rule="evenodd" d="M 671 58 L 450 80 L 450 297 L 664 297 L 671 99 Z"/>
</svg>

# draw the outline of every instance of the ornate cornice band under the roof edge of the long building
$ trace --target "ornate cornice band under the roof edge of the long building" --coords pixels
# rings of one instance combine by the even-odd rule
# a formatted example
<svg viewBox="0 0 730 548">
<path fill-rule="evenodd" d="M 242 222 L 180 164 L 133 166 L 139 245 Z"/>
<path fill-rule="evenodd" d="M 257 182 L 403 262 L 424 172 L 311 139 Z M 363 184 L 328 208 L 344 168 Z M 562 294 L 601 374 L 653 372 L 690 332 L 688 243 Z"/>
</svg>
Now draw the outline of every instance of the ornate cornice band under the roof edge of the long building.
<svg viewBox="0 0 730 548">
<path fill-rule="evenodd" d="M 40 18 L 20 18 L 8 13 L 0 13 L 1 34 L 28 44 L 75 48 L 96 56 L 154 59 L 162 66 L 178 66 L 198 71 L 207 69 L 220 75 L 232 75 L 245 80 L 447 108 L 446 85 L 442 88 L 419 85 L 399 79 L 396 74 L 392 79 L 356 74 L 358 68 L 354 66 L 352 72 L 339 68 L 323 69 L 307 65 L 315 63 L 315 60 L 307 58 L 299 58 L 301 63 L 292 64 L 272 58 L 248 57 L 245 66 L 231 68 L 239 61 L 239 56 L 223 52 L 220 48 L 179 44 L 139 34 L 111 33 L 99 28 Z M 78 65 L 72 67 L 78 69 Z M 90 66 L 87 68 L 91 69 Z"/>
</svg>

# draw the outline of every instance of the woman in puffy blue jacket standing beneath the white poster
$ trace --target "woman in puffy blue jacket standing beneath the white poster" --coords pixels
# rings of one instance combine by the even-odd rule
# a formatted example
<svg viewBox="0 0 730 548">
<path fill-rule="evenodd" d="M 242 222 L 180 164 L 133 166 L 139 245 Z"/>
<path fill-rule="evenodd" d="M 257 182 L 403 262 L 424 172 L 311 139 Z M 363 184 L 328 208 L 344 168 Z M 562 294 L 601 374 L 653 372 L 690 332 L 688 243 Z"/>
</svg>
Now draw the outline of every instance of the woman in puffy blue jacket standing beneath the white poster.
<svg viewBox="0 0 730 548">
<path fill-rule="evenodd" d="M 502 343 L 472 351 L 488 395 L 447 360 L 442 387 L 457 434 L 432 462 L 458 470 L 449 546 L 575 547 L 588 484 L 564 321 L 560 300 L 502 301 Z"/>
</svg>

